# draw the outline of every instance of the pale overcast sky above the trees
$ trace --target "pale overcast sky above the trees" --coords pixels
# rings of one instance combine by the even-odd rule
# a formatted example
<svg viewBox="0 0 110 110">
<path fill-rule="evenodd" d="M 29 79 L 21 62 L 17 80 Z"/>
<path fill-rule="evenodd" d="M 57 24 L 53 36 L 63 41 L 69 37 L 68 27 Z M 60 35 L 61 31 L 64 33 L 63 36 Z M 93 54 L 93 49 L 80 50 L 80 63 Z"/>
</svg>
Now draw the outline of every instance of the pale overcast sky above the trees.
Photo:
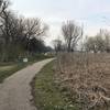
<svg viewBox="0 0 110 110">
<path fill-rule="evenodd" d="M 50 25 L 47 44 L 61 35 L 62 23 L 66 20 L 82 23 L 87 35 L 95 35 L 100 28 L 110 29 L 110 0 L 11 0 L 11 9 L 19 14 L 41 18 Z"/>
</svg>

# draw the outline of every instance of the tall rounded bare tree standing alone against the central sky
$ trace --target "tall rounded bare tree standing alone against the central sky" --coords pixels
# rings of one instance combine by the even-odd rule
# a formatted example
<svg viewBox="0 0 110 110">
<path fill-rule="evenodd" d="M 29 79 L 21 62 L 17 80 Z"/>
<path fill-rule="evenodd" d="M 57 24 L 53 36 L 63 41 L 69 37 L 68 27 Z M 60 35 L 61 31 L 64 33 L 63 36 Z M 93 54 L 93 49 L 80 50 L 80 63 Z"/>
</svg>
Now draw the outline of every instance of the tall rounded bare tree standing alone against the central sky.
<svg viewBox="0 0 110 110">
<path fill-rule="evenodd" d="M 62 32 L 66 41 L 67 51 L 70 52 L 72 48 L 74 51 L 76 44 L 82 36 L 82 28 L 76 25 L 73 21 L 67 21 L 63 24 Z"/>
</svg>

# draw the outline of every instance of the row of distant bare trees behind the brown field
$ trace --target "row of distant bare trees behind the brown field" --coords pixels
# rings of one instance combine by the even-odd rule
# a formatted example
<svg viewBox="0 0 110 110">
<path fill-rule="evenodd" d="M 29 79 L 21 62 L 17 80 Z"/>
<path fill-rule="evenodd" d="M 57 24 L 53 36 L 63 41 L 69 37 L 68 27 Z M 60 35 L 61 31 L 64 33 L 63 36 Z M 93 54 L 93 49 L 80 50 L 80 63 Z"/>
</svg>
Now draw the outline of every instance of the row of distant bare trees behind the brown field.
<svg viewBox="0 0 110 110">
<path fill-rule="evenodd" d="M 62 36 L 53 41 L 54 48 L 57 52 L 110 52 L 110 32 L 100 30 L 95 36 L 85 36 L 82 25 L 75 21 L 67 21 L 62 25 Z"/>
</svg>

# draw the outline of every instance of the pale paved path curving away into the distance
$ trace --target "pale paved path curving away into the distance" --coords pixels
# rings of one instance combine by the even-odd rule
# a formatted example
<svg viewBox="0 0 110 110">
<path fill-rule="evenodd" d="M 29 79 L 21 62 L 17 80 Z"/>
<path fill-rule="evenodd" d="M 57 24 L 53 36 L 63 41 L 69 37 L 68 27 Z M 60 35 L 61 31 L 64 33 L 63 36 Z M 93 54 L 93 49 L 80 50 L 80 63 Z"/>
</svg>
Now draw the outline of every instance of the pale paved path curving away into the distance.
<svg viewBox="0 0 110 110">
<path fill-rule="evenodd" d="M 41 68 L 51 62 L 45 59 L 16 72 L 0 85 L 0 110 L 36 110 L 31 103 L 30 82 Z"/>
</svg>

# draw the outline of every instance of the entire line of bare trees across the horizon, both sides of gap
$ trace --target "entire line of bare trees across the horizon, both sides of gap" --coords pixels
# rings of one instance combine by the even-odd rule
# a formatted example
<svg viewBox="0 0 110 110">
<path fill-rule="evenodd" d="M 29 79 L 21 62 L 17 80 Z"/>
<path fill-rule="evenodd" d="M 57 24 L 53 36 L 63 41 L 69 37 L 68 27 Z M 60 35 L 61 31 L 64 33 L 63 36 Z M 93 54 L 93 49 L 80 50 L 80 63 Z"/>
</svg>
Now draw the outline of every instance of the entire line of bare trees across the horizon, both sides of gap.
<svg viewBox="0 0 110 110">
<path fill-rule="evenodd" d="M 43 41 L 48 26 L 38 18 L 21 18 L 9 6 L 9 1 L 0 0 L 0 61 L 9 62 L 51 51 Z M 53 41 L 56 52 L 69 53 L 77 48 L 94 53 L 110 52 L 110 33 L 106 30 L 100 30 L 96 36 L 84 38 L 82 25 L 67 21 L 62 25 L 62 36 L 64 41 Z"/>
</svg>

